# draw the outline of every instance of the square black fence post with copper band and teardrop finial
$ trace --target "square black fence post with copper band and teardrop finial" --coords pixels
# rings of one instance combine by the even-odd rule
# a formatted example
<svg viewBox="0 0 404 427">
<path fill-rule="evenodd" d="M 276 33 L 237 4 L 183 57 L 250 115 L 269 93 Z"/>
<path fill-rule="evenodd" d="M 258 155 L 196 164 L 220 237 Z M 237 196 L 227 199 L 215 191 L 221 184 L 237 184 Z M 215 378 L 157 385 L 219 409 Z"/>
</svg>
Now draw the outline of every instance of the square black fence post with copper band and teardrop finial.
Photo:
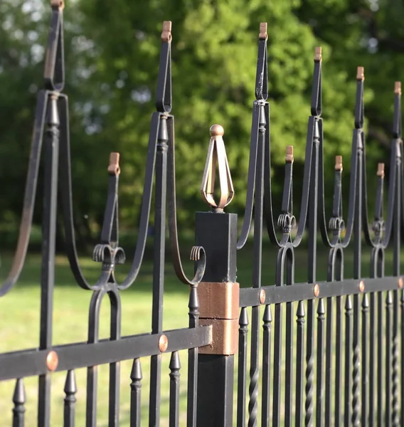
<svg viewBox="0 0 404 427">
<path fill-rule="evenodd" d="M 239 285 L 236 280 L 237 215 L 223 208 L 233 199 L 233 184 L 223 144 L 223 127 L 211 127 L 211 144 L 201 193 L 211 212 L 196 214 L 196 245 L 206 251 L 206 270 L 198 285 L 199 325 L 212 325 L 212 344 L 198 356 L 196 425 L 233 426 L 234 354 L 238 344 Z M 213 201 L 218 163 L 220 201 Z"/>
</svg>

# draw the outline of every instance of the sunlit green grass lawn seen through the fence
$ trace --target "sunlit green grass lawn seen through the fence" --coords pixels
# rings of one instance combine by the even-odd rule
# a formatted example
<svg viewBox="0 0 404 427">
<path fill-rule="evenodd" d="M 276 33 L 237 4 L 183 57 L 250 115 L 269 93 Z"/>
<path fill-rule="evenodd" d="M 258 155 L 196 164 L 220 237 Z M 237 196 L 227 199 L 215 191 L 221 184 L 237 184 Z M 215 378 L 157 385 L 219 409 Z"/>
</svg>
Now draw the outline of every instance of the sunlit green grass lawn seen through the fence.
<svg viewBox="0 0 404 427">
<path fill-rule="evenodd" d="M 296 251 L 295 281 L 304 282 L 307 276 L 307 253 L 304 250 Z M 328 252 L 319 250 L 317 259 L 318 280 L 326 279 L 326 264 Z M 4 279 L 11 257 L 3 255 L 3 265 L 0 277 Z M 363 276 L 368 276 L 369 253 L 363 253 Z M 263 253 L 262 284 L 272 285 L 275 276 L 276 253 L 265 248 Z M 252 251 L 246 248 L 238 262 L 238 281 L 242 286 L 251 285 Z M 82 258 L 81 264 L 87 279 L 94 283 L 100 271 L 100 265 L 93 263 L 89 258 Z M 124 277 L 125 265 L 117 275 Z M 186 265 L 188 273 L 191 265 Z M 386 256 L 386 275 L 390 274 L 391 256 Z M 0 352 L 9 352 L 16 349 L 26 349 L 38 346 L 39 337 L 39 300 L 40 300 L 40 255 L 30 255 L 26 260 L 25 268 L 16 287 L 5 297 L 0 299 Z M 346 251 L 345 276 L 351 277 L 352 253 Z M 190 273 L 191 275 L 191 273 Z M 146 261 L 142 273 L 132 288 L 121 292 L 122 297 L 122 335 L 149 332 L 151 329 L 151 278 L 152 263 Z M 188 288 L 176 280 L 173 268 L 167 264 L 164 292 L 164 330 L 187 327 L 188 325 Z M 68 261 L 63 256 L 57 257 L 56 278 L 53 310 L 53 344 L 67 344 L 87 340 L 87 315 L 91 292 L 82 290 L 75 285 L 70 273 Z M 108 300 L 102 305 L 100 338 L 108 337 L 109 309 Z M 272 315 L 274 312 L 272 311 Z M 285 310 L 284 310 L 285 314 Z M 285 331 L 284 331 L 285 334 Z M 273 340 L 273 337 L 272 337 Z M 273 351 L 273 350 L 272 350 Z M 273 352 L 272 352 L 273 354 Z M 161 386 L 161 426 L 168 426 L 169 416 L 169 354 L 163 355 L 162 386 Z M 181 419 L 180 425 L 186 420 L 186 373 L 187 352 L 180 352 L 181 357 Z M 129 398 L 130 398 L 130 369 L 131 361 L 121 363 L 121 397 L 120 397 L 120 425 L 129 426 Z M 144 381 L 142 387 L 142 420 L 147 424 L 149 403 L 149 358 L 142 359 Z M 107 426 L 108 406 L 108 367 L 99 367 L 98 384 L 98 422 L 97 426 Z M 78 383 L 78 402 L 76 404 L 76 425 L 84 426 L 85 419 L 85 379 L 86 370 L 75 371 Z M 63 420 L 63 386 L 65 373 L 52 374 L 52 426 L 61 426 Z M 26 386 L 26 426 L 36 426 L 37 413 L 37 378 L 28 378 Z M 237 381 L 235 381 L 235 386 Z M 1 426 L 11 425 L 11 408 L 14 381 L 0 383 L 0 414 Z"/>
</svg>

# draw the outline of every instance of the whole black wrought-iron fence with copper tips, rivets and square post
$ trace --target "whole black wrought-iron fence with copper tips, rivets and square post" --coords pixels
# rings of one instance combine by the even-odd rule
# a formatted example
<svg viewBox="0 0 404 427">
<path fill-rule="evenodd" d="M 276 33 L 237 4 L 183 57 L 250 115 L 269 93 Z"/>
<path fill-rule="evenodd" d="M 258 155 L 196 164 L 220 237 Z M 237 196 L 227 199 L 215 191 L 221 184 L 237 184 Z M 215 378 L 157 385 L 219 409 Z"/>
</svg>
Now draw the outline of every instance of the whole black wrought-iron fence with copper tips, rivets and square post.
<svg viewBox="0 0 404 427">
<path fill-rule="evenodd" d="M 196 265 L 195 277 L 189 280 L 181 265 L 176 226 L 171 23 L 165 22 L 161 35 L 156 112 L 151 116 L 139 238 L 132 265 L 127 278 L 117 283 L 115 264 L 124 263 L 125 254 L 118 239 L 119 154 L 112 153 L 105 219 L 100 244 L 93 252 L 93 259 L 101 263 L 101 273 L 99 280 L 90 284 L 80 269 L 73 228 L 68 97 L 62 92 L 63 4 L 60 1 L 51 4 L 45 88 L 38 93 L 20 234 L 14 263 L 0 288 L 0 296 L 6 297 L 23 268 L 43 152 L 40 342 L 36 349 L 0 354 L 0 381 L 16 380 L 14 396 L 10 396 L 10 404 L 11 400 L 14 402 L 13 426 L 25 425 L 24 379 L 28 376 L 38 376 L 39 379 L 38 426 L 50 426 L 50 384 L 54 371 L 66 372 L 64 426 L 74 426 L 75 370 L 83 367 L 87 368 L 86 426 L 97 426 L 97 366 L 102 364 L 110 367 L 109 426 L 118 426 L 119 384 L 122 381 L 119 362 L 124 360 L 133 360 L 132 373 L 127 379 L 127 390 L 131 395 L 130 425 L 139 426 L 144 357 L 151 358 L 149 426 L 160 425 L 161 394 L 169 394 L 169 425 L 177 426 L 179 351 L 184 349 L 188 350 L 187 426 L 245 426 L 246 423 L 248 426 L 312 426 L 314 423 L 317 426 L 403 426 L 404 293 L 400 276 L 400 233 L 404 218 L 404 185 L 400 83 L 395 83 L 394 91 L 386 223 L 383 219 L 384 166 L 379 164 L 376 209 L 369 226 L 363 68 L 358 68 L 356 77 L 348 214 L 344 221 L 342 161 L 341 157 L 336 157 L 334 204 L 327 223 L 321 49 L 316 49 L 299 221 L 292 212 L 293 149 L 290 146 L 285 158 L 282 214 L 275 221 L 270 178 L 267 29 L 261 24 L 248 194 L 241 234 L 238 238 L 237 216 L 223 211 L 234 191 L 223 144 L 223 128 L 215 125 L 211 127 L 211 144 L 201 187 L 211 211 L 196 214 L 196 246 L 191 251 L 191 260 Z M 220 191 L 215 191 L 216 167 Z M 153 184 L 155 232 L 151 332 L 123 337 L 120 292 L 134 283 L 142 265 Z M 92 297 L 87 342 L 53 346 L 58 187 L 70 268 L 80 288 L 90 290 Z M 218 201 L 215 199 L 217 192 Z M 239 288 L 236 254 L 248 241 L 252 218 L 252 287 Z M 166 228 L 169 229 L 176 275 L 190 286 L 189 327 L 170 331 L 162 328 Z M 270 242 L 277 248 L 277 259 L 272 264 L 272 268 L 275 266 L 275 285 L 262 283 L 262 233 L 265 228 Z M 302 243 L 305 230 L 308 239 L 307 283 L 294 283 L 294 251 Z M 316 278 L 318 230 L 322 245 L 329 251 L 326 281 Z M 370 272 L 361 270 L 363 243 L 371 248 Z M 386 277 L 386 249 L 390 243 L 393 246 L 393 275 Z M 349 251 L 349 246 L 353 246 L 353 251 Z M 346 253 L 353 257 L 353 278 L 349 279 L 344 277 Z M 106 294 L 111 308 L 110 339 L 99 339 L 100 305 Z M 161 355 L 166 352 L 171 354 L 169 391 L 161 390 Z M 236 360 L 235 354 L 238 354 Z M 235 406 L 233 399 L 237 401 Z M 1 420 L 2 425 L 8 425 L 9 416 L 2 413 Z"/>
</svg>

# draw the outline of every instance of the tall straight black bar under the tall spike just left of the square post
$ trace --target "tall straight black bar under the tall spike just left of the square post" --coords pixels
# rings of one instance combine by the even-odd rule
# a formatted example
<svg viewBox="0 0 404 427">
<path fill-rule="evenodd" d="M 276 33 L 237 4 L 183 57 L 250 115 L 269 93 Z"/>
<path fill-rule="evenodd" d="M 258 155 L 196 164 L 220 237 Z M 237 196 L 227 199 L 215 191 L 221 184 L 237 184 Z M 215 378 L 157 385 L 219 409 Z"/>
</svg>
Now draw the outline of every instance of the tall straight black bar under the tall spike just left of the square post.
<svg viewBox="0 0 404 427">
<path fill-rule="evenodd" d="M 151 333 L 159 334 L 163 328 L 164 295 L 164 251 L 166 238 L 166 175 L 167 175 L 167 117 L 160 115 L 157 133 L 156 192 L 154 207 L 154 263 L 153 263 L 153 306 L 151 311 Z M 151 356 L 149 426 L 160 424 L 161 354 Z"/>
</svg>

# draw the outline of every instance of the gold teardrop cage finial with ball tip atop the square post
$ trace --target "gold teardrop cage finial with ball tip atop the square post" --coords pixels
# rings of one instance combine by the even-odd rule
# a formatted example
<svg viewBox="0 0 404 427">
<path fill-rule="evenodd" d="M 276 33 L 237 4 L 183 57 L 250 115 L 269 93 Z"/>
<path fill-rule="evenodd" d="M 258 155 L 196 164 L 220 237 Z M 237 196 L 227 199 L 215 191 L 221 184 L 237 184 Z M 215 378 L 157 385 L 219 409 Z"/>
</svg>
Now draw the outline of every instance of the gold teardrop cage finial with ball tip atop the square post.
<svg viewBox="0 0 404 427">
<path fill-rule="evenodd" d="M 233 181 L 228 166 L 228 158 L 223 142 L 224 129 L 220 125 L 213 125 L 209 130 L 211 141 L 209 142 L 208 157 L 206 157 L 205 170 L 201 184 L 201 195 L 212 209 L 223 211 L 230 204 L 234 196 Z M 215 192 L 216 165 L 219 173 L 220 200 L 216 203 L 213 199 Z"/>
</svg>

